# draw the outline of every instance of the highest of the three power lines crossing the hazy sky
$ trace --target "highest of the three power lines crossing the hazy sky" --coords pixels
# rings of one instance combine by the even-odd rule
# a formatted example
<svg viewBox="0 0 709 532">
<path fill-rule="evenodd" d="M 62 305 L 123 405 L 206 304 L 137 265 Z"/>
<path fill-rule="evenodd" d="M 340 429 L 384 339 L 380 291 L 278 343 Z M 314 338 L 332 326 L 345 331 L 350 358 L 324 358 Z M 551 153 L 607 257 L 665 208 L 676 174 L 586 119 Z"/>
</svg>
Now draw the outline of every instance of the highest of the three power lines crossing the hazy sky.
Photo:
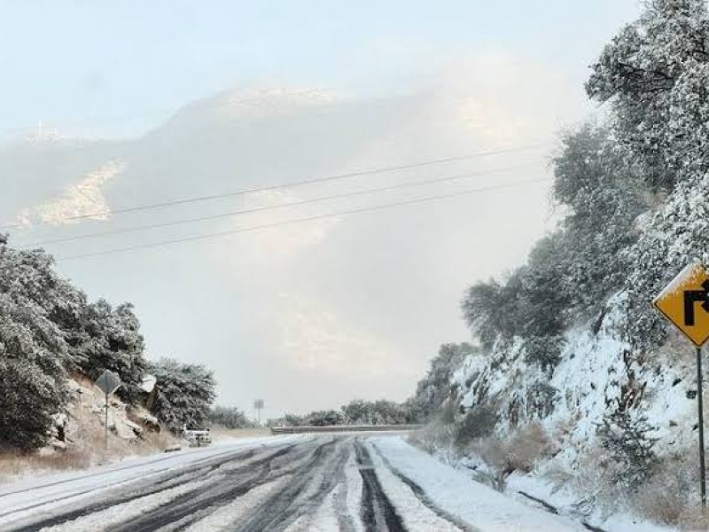
<svg viewBox="0 0 709 532">
<path fill-rule="evenodd" d="M 370 176 L 373 174 L 384 174 L 387 172 L 394 172 L 394 171 L 405 170 L 405 169 L 410 169 L 410 168 L 422 168 L 422 167 L 432 166 L 435 164 L 441 164 L 441 163 L 446 163 L 446 162 L 455 162 L 455 161 L 459 161 L 459 160 L 470 160 L 470 159 L 475 159 L 478 157 L 487 157 L 487 156 L 491 156 L 491 155 L 502 155 L 503 153 L 522 152 L 522 151 L 531 150 L 534 148 L 548 146 L 548 145 L 549 145 L 549 143 L 537 143 L 537 144 L 531 144 L 531 145 L 516 146 L 516 147 L 511 147 L 511 148 L 504 148 L 501 150 L 491 150 L 491 151 L 487 151 L 487 152 L 469 153 L 467 155 L 456 155 L 454 157 L 444 157 L 441 159 L 423 160 L 423 161 L 410 163 L 410 164 L 404 164 L 404 165 L 396 165 L 396 166 L 389 166 L 389 167 L 382 167 L 382 168 L 371 168 L 371 169 L 367 169 L 367 170 L 358 170 L 358 171 L 354 171 L 354 172 L 348 172 L 346 174 L 337 174 L 337 175 L 333 175 L 333 176 L 315 177 L 315 178 L 311 178 L 311 179 L 304 179 L 301 181 L 293 181 L 290 183 L 272 184 L 272 185 L 268 185 L 268 186 L 255 187 L 255 188 L 251 188 L 251 189 L 243 189 L 240 191 L 222 192 L 219 194 L 209 194 L 206 196 L 195 196 L 195 197 L 191 197 L 191 198 L 184 198 L 182 200 L 163 201 L 160 203 L 152 203 L 152 204 L 136 206 L 136 207 L 121 207 L 118 209 L 113 209 L 112 211 L 97 211 L 97 212 L 86 214 L 86 215 L 66 216 L 65 218 L 62 218 L 62 221 L 68 222 L 68 221 L 72 221 L 72 220 L 82 220 L 82 219 L 87 219 L 87 218 L 95 218 L 97 216 L 103 216 L 103 215 L 108 215 L 108 214 L 121 215 L 121 214 L 125 214 L 125 213 L 152 210 L 152 209 L 162 208 L 162 207 L 175 207 L 178 205 L 186 205 L 186 204 L 197 203 L 197 202 L 201 202 L 201 201 L 219 200 L 222 198 L 242 196 L 245 194 L 251 194 L 251 193 L 255 193 L 255 192 L 269 192 L 269 191 L 274 191 L 274 190 L 283 189 L 283 188 L 289 188 L 289 187 L 293 187 L 293 186 L 328 183 L 331 181 L 339 181 L 339 180 L 347 179 L 350 177 Z M 35 226 L 42 226 L 42 225 L 48 225 L 48 224 L 49 223 L 38 223 Z M 23 227 L 24 226 L 21 223 L 13 223 L 13 224 L 2 225 L 2 226 L 0 226 L 0 229 L 22 229 Z"/>
</svg>

